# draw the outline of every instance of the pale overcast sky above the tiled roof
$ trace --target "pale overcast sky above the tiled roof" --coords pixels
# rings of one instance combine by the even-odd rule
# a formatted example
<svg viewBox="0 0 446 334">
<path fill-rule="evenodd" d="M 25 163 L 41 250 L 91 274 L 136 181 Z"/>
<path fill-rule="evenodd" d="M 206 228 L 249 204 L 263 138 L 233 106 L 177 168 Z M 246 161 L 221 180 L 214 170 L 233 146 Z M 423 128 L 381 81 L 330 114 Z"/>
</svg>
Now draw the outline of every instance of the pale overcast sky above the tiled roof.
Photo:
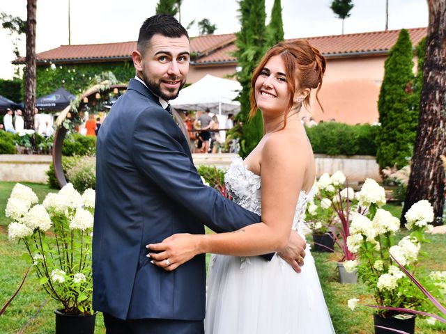
<svg viewBox="0 0 446 334">
<path fill-rule="evenodd" d="M 388 0 L 389 29 L 427 26 L 426 0 Z M 144 19 L 155 14 L 157 0 L 71 0 L 71 44 L 93 44 L 136 40 Z M 341 19 L 330 9 L 330 0 L 282 0 L 285 38 L 337 35 Z M 266 0 L 269 17 L 273 0 Z M 345 20 L 344 33 L 385 29 L 385 0 L 353 0 L 351 17 Z M 217 25 L 215 33 L 238 31 L 237 0 L 183 0 L 181 22 L 208 18 Z M 26 19 L 26 0 L 0 0 L 0 12 Z M 268 19 L 267 19 L 268 22 Z M 197 27 L 190 35 L 198 34 Z M 20 51 L 25 54 L 25 44 Z M 13 44 L 0 28 L 0 78 L 13 77 Z M 36 51 L 42 52 L 68 44 L 68 0 L 37 1 Z"/>
</svg>

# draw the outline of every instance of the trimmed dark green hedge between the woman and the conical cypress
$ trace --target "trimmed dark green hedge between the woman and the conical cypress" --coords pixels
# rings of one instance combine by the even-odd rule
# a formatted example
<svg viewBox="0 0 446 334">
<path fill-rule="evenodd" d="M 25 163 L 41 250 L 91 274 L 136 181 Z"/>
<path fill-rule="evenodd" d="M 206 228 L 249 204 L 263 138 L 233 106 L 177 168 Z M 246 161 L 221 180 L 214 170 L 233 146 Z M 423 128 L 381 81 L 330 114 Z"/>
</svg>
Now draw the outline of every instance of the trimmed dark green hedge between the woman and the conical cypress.
<svg viewBox="0 0 446 334">
<path fill-rule="evenodd" d="M 373 125 L 347 125 L 323 122 L 307 128 L 314 153 L 329 155 L 375 155 L 377 128 Z"/>
</svg>

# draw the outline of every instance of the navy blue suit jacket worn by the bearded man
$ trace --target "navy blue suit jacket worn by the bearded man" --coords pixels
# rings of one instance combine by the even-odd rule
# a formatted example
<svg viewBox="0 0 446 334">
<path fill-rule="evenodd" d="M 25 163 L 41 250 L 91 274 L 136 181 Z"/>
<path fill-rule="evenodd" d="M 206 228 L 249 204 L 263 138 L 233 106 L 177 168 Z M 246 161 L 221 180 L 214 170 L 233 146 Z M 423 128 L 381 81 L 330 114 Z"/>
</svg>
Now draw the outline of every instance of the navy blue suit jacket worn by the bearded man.
<svg viewBox="0 0 446 334">
<path fill-rule="evenodd" d="M 205 255 L 175 271 L 146 257 L 174 233 L 238 230 L 261 220 L 203 185 L 183 133 L 132 79 L 97 141 L 93 308 L 119 319 L 202 320 Z"/>
</svg>

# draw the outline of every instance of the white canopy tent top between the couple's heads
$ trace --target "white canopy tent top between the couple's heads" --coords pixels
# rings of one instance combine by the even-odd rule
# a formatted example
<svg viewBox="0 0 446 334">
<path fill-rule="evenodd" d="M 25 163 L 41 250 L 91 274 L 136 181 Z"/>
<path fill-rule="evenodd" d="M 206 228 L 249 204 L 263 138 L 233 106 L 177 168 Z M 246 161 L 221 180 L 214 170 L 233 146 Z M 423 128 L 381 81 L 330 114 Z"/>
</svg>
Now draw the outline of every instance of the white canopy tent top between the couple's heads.
<svg viewBox="0 0 446 334">
<path fill-rule="evenodd" d="M 206 74 L 182 90 L 175 100 L 170 104 L 176 109 L 185 110 L 205 110 L 217 115 L 228 115 L 229 113 L 238 113 L 240 111 L 240 102 L 233 101 L 238 91 L 242 87 L 238 81 L 222 79 Z"/>
</svg>

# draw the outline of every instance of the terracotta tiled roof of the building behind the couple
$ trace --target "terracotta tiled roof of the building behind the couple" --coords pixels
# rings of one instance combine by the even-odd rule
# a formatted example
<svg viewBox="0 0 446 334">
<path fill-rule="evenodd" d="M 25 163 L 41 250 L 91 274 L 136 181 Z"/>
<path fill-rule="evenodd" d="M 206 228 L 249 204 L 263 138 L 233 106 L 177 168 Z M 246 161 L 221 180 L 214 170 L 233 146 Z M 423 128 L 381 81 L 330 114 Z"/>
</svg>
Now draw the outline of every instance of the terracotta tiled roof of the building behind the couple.
<svg viewBox="0 0 446 334">
<path fill-rule="evenodd" d="M 413 45 L 426 35 L 426 28 L 408 29 Z M 305 38 L 322 54 L 328 57 L 348 56 L 357 53 L 385 53 L 397 41 L 399 30 L 375 31 L 370 33 L 351 33 L 346 35 L 331 35 Z M 211 64 L 215 62 L 235 62 L 232 52 L 236 50 L 233 43 L 236 35 L 203 35 L 191 38 L 191 51 L 197 54 L 193 63 Z M 61 45 L 56 49 L 37 54 L 38 64 L 53 61 L 56 63 L 82 63 L 93 61 L 118 61 L 131 59 L 136 42 L 119 42 L 92 45 Z M 24 63 L 19 58 L 13 63 Z"/>
</svg>

